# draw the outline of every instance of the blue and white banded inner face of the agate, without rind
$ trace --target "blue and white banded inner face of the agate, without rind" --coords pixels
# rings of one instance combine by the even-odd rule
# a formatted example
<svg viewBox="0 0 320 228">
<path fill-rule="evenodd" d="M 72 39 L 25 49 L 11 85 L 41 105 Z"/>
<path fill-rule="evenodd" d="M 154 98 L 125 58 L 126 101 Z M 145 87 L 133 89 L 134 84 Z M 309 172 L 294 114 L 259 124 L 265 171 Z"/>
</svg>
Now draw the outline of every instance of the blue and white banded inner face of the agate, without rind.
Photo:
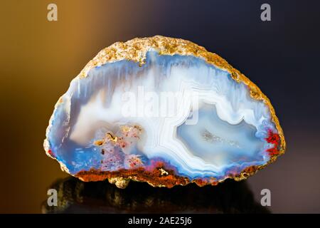
<svg viewBox="0 0 320 228">
<path fill-rule="evenodd" d="M 144 115 L 152 98 L 169 93 L 180 94 L 171 98 L 173 115 Z M 158 101 L 156 108 L 166 110 L 164 100 Z M 191 114 L 196 121 L 188 124 Z M 227 71 L 198 57 L 150 50 L 142 66 L 116 61 L 75 78 L 56 105 L 47 139 L 53 157 L 72 175 L 161 160 L 190 180 L 222 180 L 233 170 L 270 160 L 270 130 L 277 133 L 268 107 Z"/>
</svg>

